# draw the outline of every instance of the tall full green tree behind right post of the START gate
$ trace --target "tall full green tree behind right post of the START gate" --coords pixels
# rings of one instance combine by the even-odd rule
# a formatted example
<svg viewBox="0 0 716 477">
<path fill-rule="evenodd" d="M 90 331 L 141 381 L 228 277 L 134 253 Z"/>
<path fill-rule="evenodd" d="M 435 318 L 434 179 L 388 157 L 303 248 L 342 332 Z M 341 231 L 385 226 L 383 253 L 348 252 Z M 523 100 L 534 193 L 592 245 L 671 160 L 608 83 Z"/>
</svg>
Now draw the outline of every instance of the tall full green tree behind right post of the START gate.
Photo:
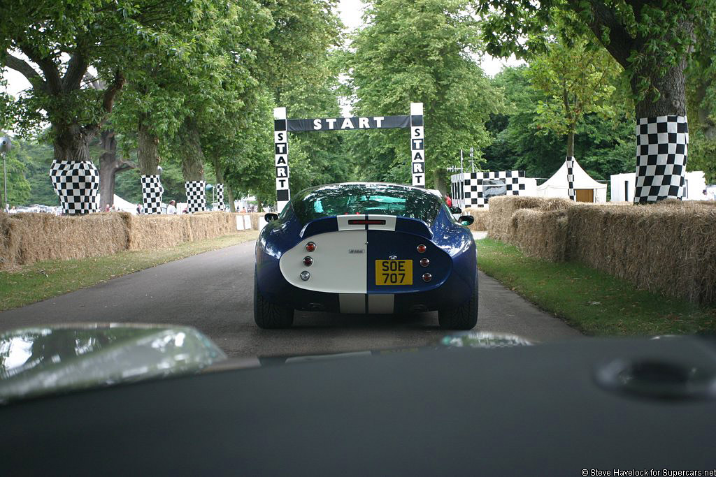
<svg viewBox="0 0 716 477">
<path fill-rule="evenodd" d="M 482 44 L 467 7 L 460 0 L 376 0 L 348 59 L 355 114 L 406 114 L 410 102 L 424 104 L 426 184 L 442 191 L 445 168 L 460 149 L 475 147 L 479 163 L 490 143 L 485 122 L 500 102 L 473 59 Z M 362 177 L 407 182 L 408 139 L 402 130 L 351 134 Z"/>
</svg>

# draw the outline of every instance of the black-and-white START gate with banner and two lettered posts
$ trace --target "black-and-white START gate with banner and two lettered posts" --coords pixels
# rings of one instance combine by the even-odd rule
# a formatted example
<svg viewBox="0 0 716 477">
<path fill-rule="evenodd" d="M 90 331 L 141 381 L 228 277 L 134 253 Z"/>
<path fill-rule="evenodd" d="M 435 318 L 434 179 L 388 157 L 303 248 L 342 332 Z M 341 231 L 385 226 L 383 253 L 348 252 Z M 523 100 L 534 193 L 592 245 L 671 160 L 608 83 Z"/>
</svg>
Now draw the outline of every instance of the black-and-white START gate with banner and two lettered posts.
<svg viewBox="0 0 716 477">
<path fill-rule="evenodd" d="M 425 187 L 425 127 L 422 103 L 410 103 L 410 115 L 287 119 L 286 108 L 274 108 L 276 204 L 279 212 L 291 199 L 289 190 L 289 132 L 354 131 L 357 129 L 410 128 L 412 185 Z"/>
</svg>

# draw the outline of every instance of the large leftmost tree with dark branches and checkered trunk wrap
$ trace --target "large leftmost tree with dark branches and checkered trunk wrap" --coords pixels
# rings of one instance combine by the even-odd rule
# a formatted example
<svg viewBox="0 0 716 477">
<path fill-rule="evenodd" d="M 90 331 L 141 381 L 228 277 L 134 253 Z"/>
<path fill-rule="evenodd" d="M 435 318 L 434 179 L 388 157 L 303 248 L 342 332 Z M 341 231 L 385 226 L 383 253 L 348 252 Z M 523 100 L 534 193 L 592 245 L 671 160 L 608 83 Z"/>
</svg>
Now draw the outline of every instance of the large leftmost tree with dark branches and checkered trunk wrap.
<svg viewBox="0 0 716 477">
<path fill-rule="evenodd" d="M 63 161 L 89 164 L 89 142 L 107 121 L 125 83 L 124 62 L 137 45 L 155 41 L 158 25 L 193 8 L 190 3 L 39 0 L 4 6 L 0 66 L 20 72 L 32 84 L 16 102 L 17 126 L 28 132 L 44 122 L 52 124 L 53 167 L 62 167 Z M 105 82 L 104 89 L 84 84 L 90 66 Z M 91 165 L 69 167 L 95 180 Z M 95 190 L 83 193 L 89 195 L 84 197 L 89 206 L 74 210 L 63 204 L 66 212 L 92 211 Z"/>
</svg>

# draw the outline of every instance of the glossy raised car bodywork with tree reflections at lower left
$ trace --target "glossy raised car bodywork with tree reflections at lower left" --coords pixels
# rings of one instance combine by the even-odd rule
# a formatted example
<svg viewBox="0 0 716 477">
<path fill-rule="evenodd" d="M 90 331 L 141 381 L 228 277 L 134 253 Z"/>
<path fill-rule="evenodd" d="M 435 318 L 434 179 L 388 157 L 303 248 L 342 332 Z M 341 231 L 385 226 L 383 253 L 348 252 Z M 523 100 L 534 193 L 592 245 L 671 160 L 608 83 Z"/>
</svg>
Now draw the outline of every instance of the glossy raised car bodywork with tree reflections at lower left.
<svg viewBox="0 0 716 477">
<path fill-rule="evenodd" d="M 194 328 L 82 324 L 0 334 L 0 403 L 196 373 L 226 355 Z"/>
</svg>

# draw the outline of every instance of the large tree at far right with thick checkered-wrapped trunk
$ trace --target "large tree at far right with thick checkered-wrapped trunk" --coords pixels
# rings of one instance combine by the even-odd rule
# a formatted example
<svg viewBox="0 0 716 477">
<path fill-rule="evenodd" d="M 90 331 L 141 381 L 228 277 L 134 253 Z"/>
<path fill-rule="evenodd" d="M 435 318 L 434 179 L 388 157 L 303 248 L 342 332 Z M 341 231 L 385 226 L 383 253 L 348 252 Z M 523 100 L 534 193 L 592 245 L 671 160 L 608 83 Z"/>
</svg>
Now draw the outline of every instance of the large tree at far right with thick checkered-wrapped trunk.
<svg viewBox="0 0 716 477">
<path fill-rule="evenodd" d="M 634 201 L 681 196 L 687 147 L 684 70 L 692 44 L 713 44 L 714 0 L 475 0 L 475 5 L 485 18 L 483 37 L 488 51 L 495 55 L 543 51 L 546 26 L 556 17 L 571 16 L 562 32 L 565 37 L 590 31 L 624 68 L 637 121 L 654 123 L 657 117 L 665 117 L 673 123 L 665 127 L 673 127 L 674 132 L 678 129 L 678 133 L 673 138 L 665 132 L 664 137 L 654 134 L 654 139 L 664 144 L 664 149 L 673 144 L 684 152 L 677 157 L 638 154 Z M 661 127 L 644 124 L 640 129 L 656 132 L 658 128 L 661 132 Z M 652 140 L 646 135 L 637 139 Z M 646 162 L 652 160 L 655 166 L 669 167 L 672 172 L 647 172 Z"/>
</svg>

